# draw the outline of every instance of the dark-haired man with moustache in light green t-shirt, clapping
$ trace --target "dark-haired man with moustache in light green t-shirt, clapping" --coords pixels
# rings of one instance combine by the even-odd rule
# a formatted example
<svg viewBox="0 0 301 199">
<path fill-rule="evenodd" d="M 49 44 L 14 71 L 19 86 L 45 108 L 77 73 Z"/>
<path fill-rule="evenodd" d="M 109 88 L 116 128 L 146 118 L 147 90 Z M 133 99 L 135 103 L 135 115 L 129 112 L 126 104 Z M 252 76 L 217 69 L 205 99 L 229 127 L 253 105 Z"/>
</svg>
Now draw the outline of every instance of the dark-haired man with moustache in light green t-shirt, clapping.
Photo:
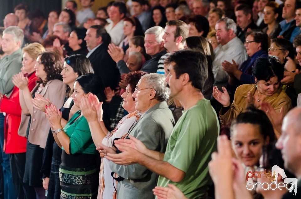
<svg viewBox="0 0 301 199">
<path fill-rule="evenodd" d="M 217 150 L 219 123 L 201 90 L 208 77 L 207 59 L 201 52 L 181 50 L 170 56 L 166 78 L 170 96 L 184 108 L 168 140 L 166 152 L 147 149 L 139 140 L 115 141 L 120 154 L 107 154 L 117 164 L 139 163 L 159 174 L 158 186 L 174 184 L 188 198 L 205 198 L 212 184 L 208 163 Z"/>
</svg>

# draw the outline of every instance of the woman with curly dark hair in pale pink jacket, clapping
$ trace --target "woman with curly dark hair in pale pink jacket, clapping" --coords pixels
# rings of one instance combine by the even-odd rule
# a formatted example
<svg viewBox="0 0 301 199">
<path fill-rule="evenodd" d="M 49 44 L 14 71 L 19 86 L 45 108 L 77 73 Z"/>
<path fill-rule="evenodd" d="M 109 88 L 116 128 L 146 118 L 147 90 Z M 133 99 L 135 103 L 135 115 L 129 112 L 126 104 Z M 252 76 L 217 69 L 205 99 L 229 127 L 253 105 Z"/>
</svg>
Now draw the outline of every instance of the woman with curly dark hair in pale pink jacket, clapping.
<svg viewBox="0 0 301 199">
<path fill-rule="evenodd" d="M 47 122 L 40 105 L 33 103 L 37 94 L 48 98 L 58 106 L 63 105 L 66 96 L 66 86 L 61 81 L 62 69 L 61 57 L 53 52 L 43 52 L 37 58 L 35 74 L 39 77 L 36 87 L 29 91 L 28 79 L 19 75 L 15 78 L 15 85 L 20 89 L 20 105 L 24 114 L 31 115 L 26 135 L 26 164 L 24 183 L 33 186 L 37 198 L 45 198 L 45 189 L 42 187 L 42 174 L 39 172 L 42 166 L 42 156 L 46 146 L 46 139 L 50 124 Z"/>
</svg>

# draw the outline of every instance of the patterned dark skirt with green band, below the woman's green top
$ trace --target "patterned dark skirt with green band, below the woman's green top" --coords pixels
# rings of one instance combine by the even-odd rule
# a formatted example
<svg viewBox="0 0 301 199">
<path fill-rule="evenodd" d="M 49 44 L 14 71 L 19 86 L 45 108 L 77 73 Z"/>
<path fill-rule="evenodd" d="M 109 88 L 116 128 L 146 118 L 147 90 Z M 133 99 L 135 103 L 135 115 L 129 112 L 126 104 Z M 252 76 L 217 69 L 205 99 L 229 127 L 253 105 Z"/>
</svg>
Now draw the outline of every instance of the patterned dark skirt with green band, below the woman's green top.
<svg viewBox="0 0 301 199">
<path fill-rule="evenodd" d="M 98 170 L 60 165 L 61 199 L 94 199 L 98 193 Z"/>
</svg>

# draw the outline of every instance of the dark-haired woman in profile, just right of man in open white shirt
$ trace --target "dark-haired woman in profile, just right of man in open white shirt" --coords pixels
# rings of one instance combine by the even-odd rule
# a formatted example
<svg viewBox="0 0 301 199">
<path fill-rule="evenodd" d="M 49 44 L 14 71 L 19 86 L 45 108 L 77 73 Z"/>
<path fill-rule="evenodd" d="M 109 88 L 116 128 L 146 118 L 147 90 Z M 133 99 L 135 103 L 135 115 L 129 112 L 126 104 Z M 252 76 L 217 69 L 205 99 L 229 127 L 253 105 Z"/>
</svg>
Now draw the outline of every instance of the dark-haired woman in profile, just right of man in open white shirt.
<svg viewBox="0 0 301 199">
<path fill-rule="evenodd" d="M 135 17 L 126 17 L 123 19 L 123 32 L 125 38 L 120 42 L 119 48 L 122 48 L 124 52 L 129 48 L 129 40 L 132 37 L 144 35 L 142 26 Z"/>
</svg>

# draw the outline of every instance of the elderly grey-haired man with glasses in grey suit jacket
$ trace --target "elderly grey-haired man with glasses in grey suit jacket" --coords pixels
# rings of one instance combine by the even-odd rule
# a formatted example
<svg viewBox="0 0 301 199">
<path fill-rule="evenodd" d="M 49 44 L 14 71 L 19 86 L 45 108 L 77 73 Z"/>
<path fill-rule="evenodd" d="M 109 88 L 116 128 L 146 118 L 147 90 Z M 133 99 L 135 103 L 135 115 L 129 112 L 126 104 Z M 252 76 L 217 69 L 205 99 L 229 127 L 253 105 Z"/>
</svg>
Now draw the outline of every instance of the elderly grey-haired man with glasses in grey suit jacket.
<svg viewBox="0 0 301 199">
<path fill-rule="evenodd" d="M 140 140 L 148 149 L 164 153 L 175 124 L 166 103 L 169 89 L 165 86 L 165 76 L 156 73 L 142 76 L 132 97 L 136 101 L 135 109 L 143 115 L 130 128 L 129 135 Z M 104 145 L 99 146 L 98 150 L 105 154 L 116 153 Z M 118 181 L 117 198 L 155 197 L 152 189 L 156 186 L 158 174 L 139 164 L 123 166 L 111 161 L 110 168 L 119 175 L 114 178 Z"/>
</svg>

